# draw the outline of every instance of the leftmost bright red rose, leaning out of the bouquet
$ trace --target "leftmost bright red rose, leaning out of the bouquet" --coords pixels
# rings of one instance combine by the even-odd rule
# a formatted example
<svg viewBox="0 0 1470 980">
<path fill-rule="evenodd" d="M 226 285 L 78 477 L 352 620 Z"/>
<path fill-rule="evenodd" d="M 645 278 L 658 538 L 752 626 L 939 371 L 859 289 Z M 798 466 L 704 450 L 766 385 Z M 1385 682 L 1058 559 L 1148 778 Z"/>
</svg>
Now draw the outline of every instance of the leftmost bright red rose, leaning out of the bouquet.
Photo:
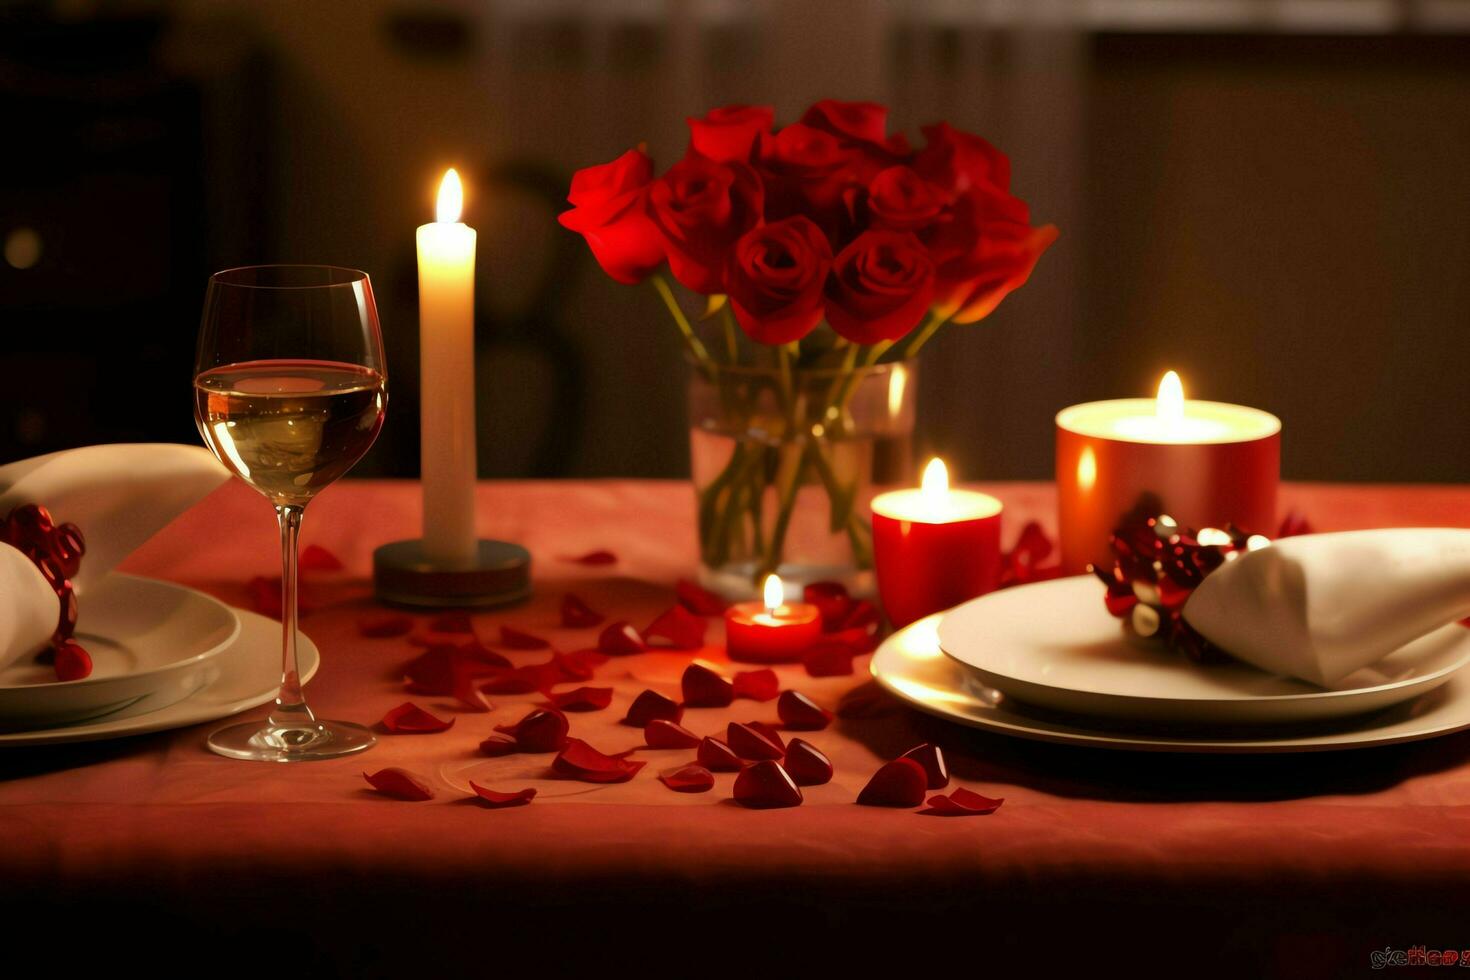
<svg viewBox="0 0 1470 980">
<path fill-rule="evenodd" d="M 567 201 L 572 210 L 559 216 L 587 239 L 603 270 L 619 282 L 641 282 L 663 262 L 659 234 L 644 210 L 653 160 L 629 150 L 612 163 L 578 170 Z"/>
</svg>

